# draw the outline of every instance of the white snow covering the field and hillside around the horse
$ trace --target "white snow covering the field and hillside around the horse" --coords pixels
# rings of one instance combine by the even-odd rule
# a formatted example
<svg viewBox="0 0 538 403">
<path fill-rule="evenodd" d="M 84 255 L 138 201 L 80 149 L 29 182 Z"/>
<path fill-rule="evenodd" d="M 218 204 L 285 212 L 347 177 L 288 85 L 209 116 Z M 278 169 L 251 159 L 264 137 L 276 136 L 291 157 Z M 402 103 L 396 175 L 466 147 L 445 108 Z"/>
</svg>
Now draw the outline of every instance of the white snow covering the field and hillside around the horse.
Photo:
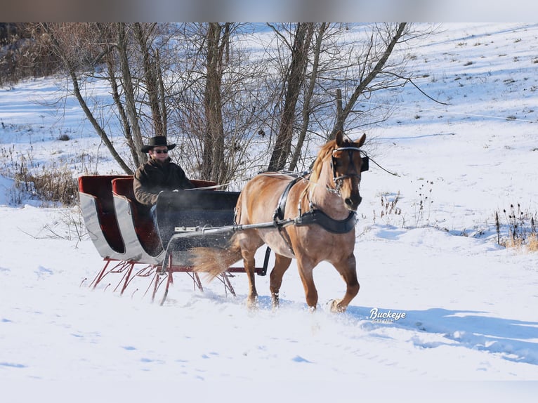
<svg viewBox="0 0 538 403">
<path fill-rule="evenodd" d="M 416 84 L 450 105 L 407 86 L 384 127 L 367 131 L 372 159 L 398 176 L 375 164 L 363 175 L 355 247 L 361 289 L 341 315 L 326 305 L 344 291 L 328 264 L 315 270 L 313 313 L 294 263 L 277 311 L 268 277 L 256 277 L 255 311 L 245 306 L 244 275 L 232 279 L 233 298 L 218 282 L 194 291 L 177 274 L 164 306 L 144 296 L 150 279 L 135 279 L 123 296 L 113 291 L 121 275 L 91 289 L 103 260 L 79 237 L 78 209 L 29 197 L 14 204 L 13 179 L 0 176 L 2 400 L 536 395 L 538 253 L 499 246 L 494 213 L 506 237 L 511 205 L 538 211 L 538 25 L 442 29 L 406 51 L 416 55 Z M 31 152 L 39 164 L 69 161 L 77 150 L 104 154 L 72 99 L 65 117 L 42 102 L 55 97 L 53 79 L 0 88 L 4 159 L 9 150 Z M 59 141 L 61 133 L 72 140 Z M 119 172 L 110 159 L 81 164 Z M 382 198 L 397 194 L 401 213 L 381 215 Z"/>
</svg>

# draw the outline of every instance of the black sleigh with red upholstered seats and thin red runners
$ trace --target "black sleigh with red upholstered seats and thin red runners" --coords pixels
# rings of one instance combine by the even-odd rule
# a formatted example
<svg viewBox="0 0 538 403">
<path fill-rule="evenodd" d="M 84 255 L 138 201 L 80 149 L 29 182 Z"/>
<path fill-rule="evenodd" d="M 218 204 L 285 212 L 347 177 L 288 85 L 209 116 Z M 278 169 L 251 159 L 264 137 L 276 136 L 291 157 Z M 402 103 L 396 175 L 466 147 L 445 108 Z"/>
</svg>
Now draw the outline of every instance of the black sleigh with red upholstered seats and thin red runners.
<svg viewBox="0 0 538 403">
<path fill-rule="evenodd" d="M 173 275 L 183 272 L 190 276 L 195 288 L 203 290 L 192 270 L 189 250 L 226 246 L 233 233 L 228 228 L 233 226 L 240 192 L 214 190 L 216 183 L 206 180 L 192 180 L 196 187 L 193 190 L 161 192 L 155 225 L 147 208 L 134 197 L 132 176 L 81 176 L 78 183 L 86 229 L 105 262 L 91 287 L 95 289 L 105 278 L 120 275 L 114 291 L 123 294 L 133 279 L 150 278 L 145 294 L 152 289 L 151 298 L 155 300 L 157 291 L 164 287 L 162 304 L 173 284 Z M 215 227 L 221 230 L 206 231 Z M 265 275 L 267 265 L 268 253 L 256 273 Z M 240 272 L 244 267 L 232 265 L 219 277 L 225 293 L 235 295 L 230 277 Z"/>
</svg>

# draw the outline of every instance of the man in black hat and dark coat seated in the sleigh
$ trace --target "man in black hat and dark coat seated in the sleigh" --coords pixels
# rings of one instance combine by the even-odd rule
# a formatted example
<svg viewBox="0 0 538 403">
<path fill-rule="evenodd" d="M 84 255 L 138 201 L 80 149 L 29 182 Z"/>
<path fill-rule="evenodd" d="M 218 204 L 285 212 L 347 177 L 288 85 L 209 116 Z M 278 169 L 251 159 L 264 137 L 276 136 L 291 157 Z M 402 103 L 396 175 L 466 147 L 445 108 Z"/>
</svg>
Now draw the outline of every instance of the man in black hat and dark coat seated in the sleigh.
<svg viewBox="0 0 538 403">
<path fill-rule="evenodd" d="M 174 164 L 168 156 L 169 150 L 176 147 L 175 144 L 166 144 L 166 137 L 156 136 L 150 138 L 148 145 L 144 145 L 140 151 L 150 154 L 150 159 L 140 166 L 134 175 L 133 190 L 136 199 L 150 209 L 155 223 L 155 203 L 157 195 L 162 190 L 192 189 L 192 185 L 181 166 Z"/>
</svg>

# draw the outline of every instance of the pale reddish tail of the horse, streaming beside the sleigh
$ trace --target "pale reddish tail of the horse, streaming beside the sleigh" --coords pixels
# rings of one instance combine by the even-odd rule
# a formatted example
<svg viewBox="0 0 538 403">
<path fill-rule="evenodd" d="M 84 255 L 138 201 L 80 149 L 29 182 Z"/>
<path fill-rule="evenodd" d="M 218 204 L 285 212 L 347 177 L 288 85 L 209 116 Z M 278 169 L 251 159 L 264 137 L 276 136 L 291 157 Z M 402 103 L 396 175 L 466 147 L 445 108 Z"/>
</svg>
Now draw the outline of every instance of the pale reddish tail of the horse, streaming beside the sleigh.
<svg viewBox="0 0 538 403">
<path fill-rule="evenodd" d="M 232 263 L 242 257 L 241 247 L 235 235 L 230 239 L 230 244 L 226 249 L 192 248 L 190 252 L 192 253 L 192 270 L 207 273 L 209 281 L 228 270 Z"/>
</svg>

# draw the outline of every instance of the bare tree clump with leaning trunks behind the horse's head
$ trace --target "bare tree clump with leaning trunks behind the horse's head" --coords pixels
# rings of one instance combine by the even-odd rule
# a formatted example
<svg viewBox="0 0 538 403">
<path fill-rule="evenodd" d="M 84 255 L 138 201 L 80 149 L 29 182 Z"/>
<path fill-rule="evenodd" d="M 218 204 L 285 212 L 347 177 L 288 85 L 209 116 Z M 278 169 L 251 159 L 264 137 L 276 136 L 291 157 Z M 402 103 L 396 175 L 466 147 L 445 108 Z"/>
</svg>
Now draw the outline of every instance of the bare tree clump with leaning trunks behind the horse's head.
<svg viewBox="0 0 538 403">
<path fill-rule="evenodd" d="M 325 141 L 334 138 L 337 131 L 356 131 L 357 128 L 379 124 L 390 112 L 390 105 L 361 105 L 360 100 L 370 100 L 374 93 L 386 94 L 402 88 L 412 80 L 412 73 L 406 71 L 407 53 L 403 50 L 411 39 L 421 39 L 431 34 L 431 30 L 414 31 L 405 23 L 357 25 L 317 24 L 315 34 L 308 46 L 303 46 L 303 60 L 306 65 L 303 77 L 289 81 L 299 54 L 296 44 L 301 43 L 301 29 L 295 31 L 284 27 L 274 27 L 275 36 L 282 44 L 277 47 L 277 66 L 285 68 L 282 82 L 282 98 L 275 105 L 284 105 L 280 117 L 277 140 L 268 169 L 283 169 L 289 160 L 289 169 L 298 167 L 299 159 L 305 157 L 304 147 L 313 136 Z M 351 31 L 351 32 L 350 32 Z M 291 39 L 284 37 L 287 33 Z M 289 46 L 289 44 L 294 44 Z M 398 53 L 395 54 L 395 51 Z M 289 60 L 289 62 L 287 62 Z M 298 98 L 296 87 L 289 84 L 301 82 Z M 290 103 L 294 100 L 296 103 Z M 290 113 L 289 105 L 296 107 Z M 325 134 L 317 135 L 318 132 Z M 285 133 L 285 134 L 284 134 Z M 303 166 L 305 165 L 303 160 Z"/>
</svg>

